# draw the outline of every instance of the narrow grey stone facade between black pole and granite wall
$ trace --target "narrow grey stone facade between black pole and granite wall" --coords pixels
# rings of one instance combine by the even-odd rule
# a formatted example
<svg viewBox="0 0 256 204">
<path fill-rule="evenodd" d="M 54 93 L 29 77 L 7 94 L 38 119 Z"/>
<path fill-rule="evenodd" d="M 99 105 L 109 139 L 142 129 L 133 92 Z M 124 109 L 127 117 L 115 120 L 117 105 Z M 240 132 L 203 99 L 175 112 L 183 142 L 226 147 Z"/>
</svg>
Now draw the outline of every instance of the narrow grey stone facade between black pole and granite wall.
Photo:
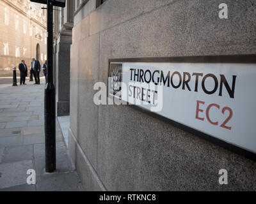
<svg viewBox="0 0 256 204">
<path fill-rule="evenodd" d="M 56 113 L 69 115 L 70 45 L 72 43 L 75 1 L 67 1 L 65 8 L 54 10 L 54 84 Z"/>
</svg>

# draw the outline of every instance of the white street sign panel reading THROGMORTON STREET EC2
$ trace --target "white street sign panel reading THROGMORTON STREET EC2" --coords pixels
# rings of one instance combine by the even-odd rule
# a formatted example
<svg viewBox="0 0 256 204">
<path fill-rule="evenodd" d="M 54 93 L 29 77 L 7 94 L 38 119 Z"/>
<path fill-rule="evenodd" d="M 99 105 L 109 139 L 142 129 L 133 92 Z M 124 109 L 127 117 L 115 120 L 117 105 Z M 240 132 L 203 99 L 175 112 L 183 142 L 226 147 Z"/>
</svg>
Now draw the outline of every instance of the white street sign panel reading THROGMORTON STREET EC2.
<svg viewBox="0 0 256 204">
<path fill-rule="evenodd" d="M 256 65 L 111 63 L 109 94 L 256 153 Z"/>
</svg>

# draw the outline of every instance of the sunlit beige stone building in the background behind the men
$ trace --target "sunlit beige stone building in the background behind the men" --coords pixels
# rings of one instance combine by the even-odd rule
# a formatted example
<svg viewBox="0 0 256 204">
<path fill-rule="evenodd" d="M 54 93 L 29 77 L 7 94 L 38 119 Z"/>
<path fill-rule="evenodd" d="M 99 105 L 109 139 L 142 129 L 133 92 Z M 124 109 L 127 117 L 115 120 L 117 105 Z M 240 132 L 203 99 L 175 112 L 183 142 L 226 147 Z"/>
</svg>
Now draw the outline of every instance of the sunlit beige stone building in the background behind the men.
<svg viewBox="0 0 256 204">
<path fill-rule="evenodd" d="M 46 10 L 28 0 L 0 1 L 0 75 L 12 73 L 21 59 L 47 58 Z"/>
</svg>

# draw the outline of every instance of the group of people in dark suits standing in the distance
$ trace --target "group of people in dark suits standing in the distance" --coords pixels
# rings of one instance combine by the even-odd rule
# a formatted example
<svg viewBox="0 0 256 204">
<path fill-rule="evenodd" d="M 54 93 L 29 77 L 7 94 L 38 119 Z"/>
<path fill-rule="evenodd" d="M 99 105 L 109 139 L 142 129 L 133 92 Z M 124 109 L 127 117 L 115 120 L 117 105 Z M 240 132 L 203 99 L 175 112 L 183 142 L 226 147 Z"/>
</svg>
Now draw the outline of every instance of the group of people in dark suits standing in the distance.
<svg viewBox="0 0 256 204">
<path fill-rule="evenodd" d="M 35 59 L 35 57 L 32 58 L 31 61 L 31 67 L 30 71 L 31 74 L 35 78 L 35 84 L 40 84 L 40 71 L 41 69 L 44 71 L 45 76 L 45 83 L 46 83 L 46 75 L 47 75 L 47 61 L 44 62 L 42 68 L 40 65 L 40 62 Z M 19 64 L 19 70 L 20 70 L 20 85 L 26 85 L 26 77 L 28 77 L 28 67 L 25 64 L 25 61 L 22 59 L 21 63 Z"/>
</svg>

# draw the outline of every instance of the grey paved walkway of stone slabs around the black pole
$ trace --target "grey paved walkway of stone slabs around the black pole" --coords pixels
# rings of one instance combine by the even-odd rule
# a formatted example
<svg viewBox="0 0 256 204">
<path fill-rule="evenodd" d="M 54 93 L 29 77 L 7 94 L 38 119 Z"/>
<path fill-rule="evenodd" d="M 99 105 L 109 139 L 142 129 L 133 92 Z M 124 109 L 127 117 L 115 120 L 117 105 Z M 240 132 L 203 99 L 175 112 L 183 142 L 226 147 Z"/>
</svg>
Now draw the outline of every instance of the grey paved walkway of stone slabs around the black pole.
<svg viewBox="0 0 256 204">
<path fill-rule="evenodd" d="M 40 85 L 0 87 L 0 191 L 83 191 L 56 120 L 57 172 L 46 174 L 44 78 Z M 0 83 L 1 84 L 1 83 Z M 36 172 L 28 185 L 27 171 Z"/>
</svg>

